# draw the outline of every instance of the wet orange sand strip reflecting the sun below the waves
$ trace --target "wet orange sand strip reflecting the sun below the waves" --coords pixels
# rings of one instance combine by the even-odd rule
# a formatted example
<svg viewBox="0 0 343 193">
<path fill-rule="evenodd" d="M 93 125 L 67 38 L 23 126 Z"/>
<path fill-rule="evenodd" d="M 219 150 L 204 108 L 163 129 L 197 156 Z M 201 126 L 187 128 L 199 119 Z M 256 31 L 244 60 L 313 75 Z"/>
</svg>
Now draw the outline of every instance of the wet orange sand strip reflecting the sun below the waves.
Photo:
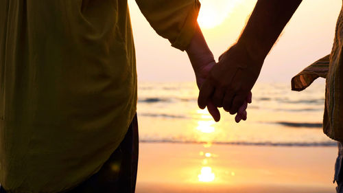
<svg viewBox="0 0 343 193">
<path fill-rule="evenodd" d="M 141 143 L 137 193 L 335 192 L 337 148 Z"/>
</svg>

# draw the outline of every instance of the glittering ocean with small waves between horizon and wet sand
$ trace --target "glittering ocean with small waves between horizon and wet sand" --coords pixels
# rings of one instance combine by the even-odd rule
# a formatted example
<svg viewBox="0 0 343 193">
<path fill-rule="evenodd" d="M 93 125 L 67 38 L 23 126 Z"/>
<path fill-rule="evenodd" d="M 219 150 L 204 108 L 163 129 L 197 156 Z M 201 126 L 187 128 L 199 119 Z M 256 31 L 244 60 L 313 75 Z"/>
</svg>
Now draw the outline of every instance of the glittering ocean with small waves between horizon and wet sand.
<svg viewBox="0 0 343 193">
<path fill-rule="evenodd" d="M 324 82 L 305 91 L 287 83 L 257 83 L 248 120 L 221 112 L 214 122 L 198 108 L 194 82 L 139 82 L 137 114 L 141 143 L 336 146 L 322 133 Z"/>
</svg>

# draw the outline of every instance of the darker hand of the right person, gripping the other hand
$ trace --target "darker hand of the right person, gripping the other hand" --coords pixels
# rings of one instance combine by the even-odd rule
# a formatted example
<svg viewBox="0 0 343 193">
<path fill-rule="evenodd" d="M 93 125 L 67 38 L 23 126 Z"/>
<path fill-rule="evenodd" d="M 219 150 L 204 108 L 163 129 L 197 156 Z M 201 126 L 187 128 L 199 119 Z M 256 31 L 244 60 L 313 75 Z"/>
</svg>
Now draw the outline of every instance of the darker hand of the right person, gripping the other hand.
<svg viewBox="0 0 343 193">
<path fill-rule="evenodd" d="M 234 45 L 220 56 L 200 89 L 198 104 L 201 109 L 211 101 L 216 107 L 234 115 L 242 113 L 240 107 L 251 101 L 254 86 L 263 60 L 250 57 L 244 45 Z"/>
</svg>

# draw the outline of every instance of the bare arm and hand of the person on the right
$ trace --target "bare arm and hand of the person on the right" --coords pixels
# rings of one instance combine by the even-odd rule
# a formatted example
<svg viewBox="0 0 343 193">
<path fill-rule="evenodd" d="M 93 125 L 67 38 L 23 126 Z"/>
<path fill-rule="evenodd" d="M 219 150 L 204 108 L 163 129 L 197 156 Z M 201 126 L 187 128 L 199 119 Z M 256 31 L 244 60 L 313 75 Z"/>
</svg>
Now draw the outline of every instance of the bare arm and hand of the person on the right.
<svg viewBox="0 0 343 193">
<path fill-rule="evenodd" d="M 218 65 L 202 84 L 198 104 L 204 109 L 212 100 L 215 106 L 237 113 L 254 86 L 263 61 L 301 0 L 259 0 L 233 47 L 220 57 Z"/>
</svg>

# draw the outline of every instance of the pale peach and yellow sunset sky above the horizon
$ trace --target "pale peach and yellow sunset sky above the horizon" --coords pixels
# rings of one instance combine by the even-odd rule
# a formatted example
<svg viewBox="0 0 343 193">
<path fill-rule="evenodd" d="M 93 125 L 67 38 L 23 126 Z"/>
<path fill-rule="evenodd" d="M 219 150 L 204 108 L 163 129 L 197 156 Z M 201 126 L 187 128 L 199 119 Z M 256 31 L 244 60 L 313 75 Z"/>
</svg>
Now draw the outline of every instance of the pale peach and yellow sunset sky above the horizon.
<svg viewBox="0 0 343 193">
<path fill-rule="evenodd" d="M 218 58 L 233 45 L 257 0 L 200 0 L 198 21 Z M 134 0 L 128 1 L 137 51 L 139 81 L 193 81 L 185 52 L 152 30 Z M 298 71 L 329 54 L 341 0 L 304 0 L 265 60 L 259 81 L 289 82 Z M 268 30 L 268 29 L 266 29 Z"/>
</svg>

